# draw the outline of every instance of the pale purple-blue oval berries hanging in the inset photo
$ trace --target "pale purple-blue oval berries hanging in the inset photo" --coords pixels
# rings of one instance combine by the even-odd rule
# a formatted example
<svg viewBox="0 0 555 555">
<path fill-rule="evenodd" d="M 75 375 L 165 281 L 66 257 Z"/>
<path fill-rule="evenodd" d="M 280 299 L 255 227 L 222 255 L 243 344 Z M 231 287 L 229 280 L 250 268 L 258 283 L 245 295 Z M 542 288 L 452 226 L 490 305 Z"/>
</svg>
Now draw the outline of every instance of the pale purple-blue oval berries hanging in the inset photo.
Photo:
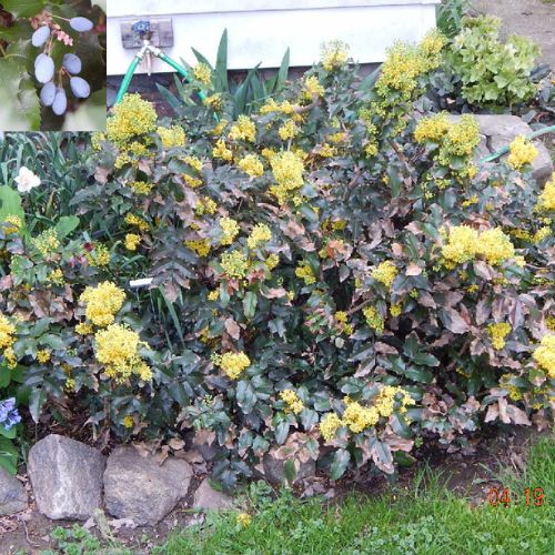
<svg viewBox="0 0 555 555">
<path fill-rule="evenodd" d="M 92 21 L 87 18 L 72 18 L 69 20 L 69 24 L 78 32 L 87 32 L 93 28 Z M 91 87 L 84 79 L 75 77 L 81 72 L 82 63 L 79 57 L 72 53 L 63 56 L 58 85 L 54 83 L 56 68 L 54 61 L 50 56 L 50 27 L 44 24 L 37 29 L 32 34 L 32 46 L 43 48 L 43 51 L 34 60 L 34 77 L 39 83 L 42 83 L 40 101 L 44 105 L 51 107 L 52 111 L 57 115 L 62 115 L 65 113 L 68 108 L 68 98 L 65 97 L 65 90 L 62 87 L 63 74 L 67 74 L 70 78 L 71 92 L 78 99 L 88 98 L 91 93 Z"/>
</svg>

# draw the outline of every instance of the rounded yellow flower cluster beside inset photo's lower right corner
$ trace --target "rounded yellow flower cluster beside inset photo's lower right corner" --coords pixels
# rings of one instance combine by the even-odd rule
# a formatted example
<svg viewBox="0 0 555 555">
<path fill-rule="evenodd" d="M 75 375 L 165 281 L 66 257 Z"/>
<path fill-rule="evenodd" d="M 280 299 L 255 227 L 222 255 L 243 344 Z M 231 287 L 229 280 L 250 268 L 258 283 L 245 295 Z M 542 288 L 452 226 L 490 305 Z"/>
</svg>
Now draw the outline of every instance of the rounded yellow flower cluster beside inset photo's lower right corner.
<svg viewBox="0 0 555 555">
<path fill-rule="evenodd" d="M 157 111 L 150 102 L 142 100 L 139 94 L 125 94 L 108 118 L 108 139 L 119 145 L 125 144 L 135 135 L 154 131 L 157 119 Z"/>
</svg>

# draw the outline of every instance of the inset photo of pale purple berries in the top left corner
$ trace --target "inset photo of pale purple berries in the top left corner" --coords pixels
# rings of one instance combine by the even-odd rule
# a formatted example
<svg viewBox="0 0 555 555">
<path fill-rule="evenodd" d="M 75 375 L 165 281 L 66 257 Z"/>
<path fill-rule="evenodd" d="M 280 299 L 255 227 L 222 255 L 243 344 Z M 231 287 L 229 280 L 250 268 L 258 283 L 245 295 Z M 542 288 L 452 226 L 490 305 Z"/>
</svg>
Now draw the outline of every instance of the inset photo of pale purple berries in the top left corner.
<svg viewBox="0 0 555 555">
<path fill-rule="evenodd" d="M 105 130 L 105 9 L 0 1 L 0 131 Z"/>
</svg>

